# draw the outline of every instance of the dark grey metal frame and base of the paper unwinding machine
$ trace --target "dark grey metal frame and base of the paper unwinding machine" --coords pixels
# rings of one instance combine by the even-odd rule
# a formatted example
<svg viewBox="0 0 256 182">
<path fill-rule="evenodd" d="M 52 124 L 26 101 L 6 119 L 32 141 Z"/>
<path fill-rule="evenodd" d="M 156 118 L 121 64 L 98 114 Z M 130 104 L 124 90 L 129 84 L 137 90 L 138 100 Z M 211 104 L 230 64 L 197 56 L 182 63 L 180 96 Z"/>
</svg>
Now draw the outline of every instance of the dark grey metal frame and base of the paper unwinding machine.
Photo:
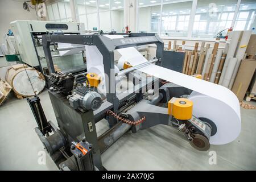
<svg viewBox="0 0 256 182">
<path fill-rule="evenodd" d="M 120 34 L 119 34 L 120 35 Z M 122 101 L 119 100 L 115 92 L 115 74 L 114 70 L 114 50 L 119 48 L 142 46 L 147 44 L 156 44 L 156 58 L 161 60 L 156 62 L 157 65 L 173 69 L 175 71 L 182 71 L 183 57 L 177 55 L 176 52 L 164 51 L 164 43 L 155 34 L 122 34 L 129 35 L 122 39 L 109 39 L 104 35 L 44 35 L 43 49 L 46 56 L 47 65 L 50 73 L 54 73 L 53 60 L 49 46 L 52 42 L 82 44 L 89 46 L 96 46 L 103 56 L 104 71 L 109 76 L 110 81 L 107 87 L 106 99 L 100 109 L 96 111 L 81 112 L 73 109 L 69 105 L 67 98 L 60 96 L 55 92 L 49 92 L 52 106 L 56 114 L 57 122 L 61 133 L 67 139 L 70 145 L 72 141 L 80 141 L 83 137 L 93 144 L 93 163 L 98 169 L 104 169 L 101 162 L 101 154 L 108 149 L 119 137 L 122 137 L 128 130 L 136 132 L 139 129 L 147 129 L 158 124 L 170 125 L 169 115 L 167 109 L 156 106 L 160 102 L 168 102 L 171 97 L 180 97 L 184 94 L 190 94 L 192 90 L 182 88 L 177 85 L 168 85 L 166 88 L 160 88 L 159 98 L 153 101 L 142 100 L 142 94 L 129 94 L 125 98 L 133 101 L 137 105 L 127 111 L 127 118 L 132 121 L 146 116 L 147 122 L 138 126 L 127 125 L 126 123 L 117 122 L 114 117 L 109 118 L 110 129 L 105 134 L 97 137 L 95 123 L 106 117 L 106 111 L 112 109 L 114 112 L 120 111 L 122 113 Z M 151 83 L 152 84 L 152 83 Z M 109 92 L 108 92 L 109 91 Z M 111 91 L 111 92 L 110 92 Z M 138 103 L 139 102 L 139 103 Z M 146 109 L 146 110 L 145 110 Z M 65 112 L 63 112 L 65 111 Z M 111 121 L 112 120 L 112 121 Z M 69 127 L 71 126 L 72 127 Z M 91 130 L 92 129 L 92 130 Z M 59 135 L 57 135 L 59 137 Z M 61 137 L 60 137 L 61 138 Z M 61 143 L 62 144 L 62 143 Z M 90 159 L 92 160 L 92 159 Z"/>
</svg>

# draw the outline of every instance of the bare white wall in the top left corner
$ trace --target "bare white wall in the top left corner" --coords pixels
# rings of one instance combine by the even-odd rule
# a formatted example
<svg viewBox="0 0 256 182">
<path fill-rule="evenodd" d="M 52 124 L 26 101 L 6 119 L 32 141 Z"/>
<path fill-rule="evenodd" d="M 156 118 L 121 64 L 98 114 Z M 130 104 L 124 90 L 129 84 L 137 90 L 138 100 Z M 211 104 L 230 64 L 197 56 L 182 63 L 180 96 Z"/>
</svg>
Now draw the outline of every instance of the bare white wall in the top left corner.
<svg viewBox="0 0 256 182">
<path fill-rule="evenodd" d="M 22 1 L 1 0 L 0 1 L 0 44 L 3 43 L 3 34 L 8 32 L 10 22 L 14 20 L 37 20 L 34 9 L 30 12 L 23 9 Z"/>
</svg>

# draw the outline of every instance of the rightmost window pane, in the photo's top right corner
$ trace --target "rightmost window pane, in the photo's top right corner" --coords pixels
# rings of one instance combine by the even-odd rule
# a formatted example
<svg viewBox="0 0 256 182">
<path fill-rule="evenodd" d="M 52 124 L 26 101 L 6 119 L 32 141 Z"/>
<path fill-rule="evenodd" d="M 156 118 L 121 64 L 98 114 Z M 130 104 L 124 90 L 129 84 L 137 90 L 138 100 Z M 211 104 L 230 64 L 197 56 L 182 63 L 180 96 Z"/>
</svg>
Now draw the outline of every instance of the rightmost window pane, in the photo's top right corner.
<svg viewBox="0 0 256 182">
<path fill-rule="evenodd" d="M 256 1 L 242 0 L 237 14 L 234 30 L 251 30 L 255 18 Z"/>
</svg>

